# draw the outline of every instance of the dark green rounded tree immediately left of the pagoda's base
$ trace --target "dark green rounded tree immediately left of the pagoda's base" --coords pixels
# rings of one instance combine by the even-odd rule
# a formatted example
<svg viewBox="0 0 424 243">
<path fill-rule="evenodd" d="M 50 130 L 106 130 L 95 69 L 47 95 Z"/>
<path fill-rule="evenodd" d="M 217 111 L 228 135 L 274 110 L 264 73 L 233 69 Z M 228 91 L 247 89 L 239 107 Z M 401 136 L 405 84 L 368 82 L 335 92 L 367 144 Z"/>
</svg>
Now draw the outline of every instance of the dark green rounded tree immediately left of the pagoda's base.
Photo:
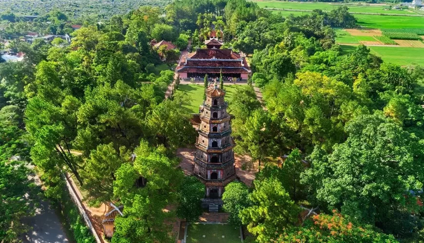
<svg viewBox="0 0 424 243">
<path fill-rule="evenodd" d="M 205 185 L 194 176 L 185 176 L 178 189 L 176 214 L 187 222 L 196 222 L 202 214 L 201 199 L 205 196 Z"/>
</svg>

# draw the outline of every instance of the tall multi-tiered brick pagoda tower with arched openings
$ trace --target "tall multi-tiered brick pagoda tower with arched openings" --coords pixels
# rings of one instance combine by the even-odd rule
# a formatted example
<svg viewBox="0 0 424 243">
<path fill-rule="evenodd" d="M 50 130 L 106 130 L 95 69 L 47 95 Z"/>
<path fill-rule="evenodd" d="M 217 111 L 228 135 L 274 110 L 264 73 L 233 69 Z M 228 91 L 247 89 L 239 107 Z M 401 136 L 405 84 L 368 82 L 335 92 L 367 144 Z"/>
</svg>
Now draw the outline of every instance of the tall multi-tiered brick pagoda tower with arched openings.
<svg viewBox="0 0 424 243">
<path fill-rule="evenodd" d="M 236 178 L 230 115 L 224 96 L 225 91 L 216 83 L 206 90 L 197 129 L 194 174 L 205 184 L 209 199 L 221 198 L 224 187 Z"/>
</svg>

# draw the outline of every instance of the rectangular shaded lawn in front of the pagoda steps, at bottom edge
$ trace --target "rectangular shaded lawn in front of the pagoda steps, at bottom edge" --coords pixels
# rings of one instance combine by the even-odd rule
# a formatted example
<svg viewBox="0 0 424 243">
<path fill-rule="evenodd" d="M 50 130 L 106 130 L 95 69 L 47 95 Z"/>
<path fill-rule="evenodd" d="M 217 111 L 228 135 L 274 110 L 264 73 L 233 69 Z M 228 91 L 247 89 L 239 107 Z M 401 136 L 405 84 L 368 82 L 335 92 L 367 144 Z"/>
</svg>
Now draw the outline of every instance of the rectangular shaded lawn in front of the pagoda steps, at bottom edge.
<svg viewBox="0 0 424 243">
<path fill-rule="evenodd" d="M 187 243 L 240 243 L 239 237 L 240 228 L 230 225 L 190 224 L 187 228 Z"/>
</svg>

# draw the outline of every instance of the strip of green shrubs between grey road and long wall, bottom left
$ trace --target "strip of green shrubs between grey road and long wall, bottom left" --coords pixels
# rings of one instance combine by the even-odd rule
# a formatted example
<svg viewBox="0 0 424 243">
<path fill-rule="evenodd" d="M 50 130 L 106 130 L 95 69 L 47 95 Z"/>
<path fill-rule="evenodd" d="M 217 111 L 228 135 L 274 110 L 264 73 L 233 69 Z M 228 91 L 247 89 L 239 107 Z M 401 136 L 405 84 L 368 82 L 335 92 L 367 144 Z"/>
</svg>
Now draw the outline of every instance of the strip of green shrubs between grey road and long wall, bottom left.
<svg viewBox="0 0 424 243">
<path fill-rule="evenodd" d="M 85 225 L 84 220 L 75 207 L 67 189 L 63 190 L 60 205 L 62 206 L 62 215 L 66 219 L 67 226 L 74 234 L 77 243 L 96 243 L 90 229 Z"/>
</svg>

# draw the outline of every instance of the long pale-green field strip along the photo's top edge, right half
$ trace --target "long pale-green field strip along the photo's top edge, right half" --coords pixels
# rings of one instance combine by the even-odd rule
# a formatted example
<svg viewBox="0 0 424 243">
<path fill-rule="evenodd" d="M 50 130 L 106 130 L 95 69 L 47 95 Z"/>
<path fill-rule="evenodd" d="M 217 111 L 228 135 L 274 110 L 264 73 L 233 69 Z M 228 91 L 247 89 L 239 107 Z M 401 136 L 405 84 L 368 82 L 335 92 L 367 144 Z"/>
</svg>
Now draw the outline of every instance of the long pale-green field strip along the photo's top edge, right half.
<svg viewBox="0 0 424 243">
<path fill-rule="evenodd" d="M 404 14 L 416 15 L 415 12 L 408 10 L 385 10 L 388 5 L 376 4 L 356 4 L 356 3 L 328 3 L 328 2 L 291 2 L 291 1 L 255 1 L 262 8 L 279 8 L 279 9 L 298 9 L 298 10 L 314 10 L 322 9 L 331 11 L 339 6 L 346 5 L 349 12 L 353 13 L 377 13 L 377 14 Z"/>
</svg>

